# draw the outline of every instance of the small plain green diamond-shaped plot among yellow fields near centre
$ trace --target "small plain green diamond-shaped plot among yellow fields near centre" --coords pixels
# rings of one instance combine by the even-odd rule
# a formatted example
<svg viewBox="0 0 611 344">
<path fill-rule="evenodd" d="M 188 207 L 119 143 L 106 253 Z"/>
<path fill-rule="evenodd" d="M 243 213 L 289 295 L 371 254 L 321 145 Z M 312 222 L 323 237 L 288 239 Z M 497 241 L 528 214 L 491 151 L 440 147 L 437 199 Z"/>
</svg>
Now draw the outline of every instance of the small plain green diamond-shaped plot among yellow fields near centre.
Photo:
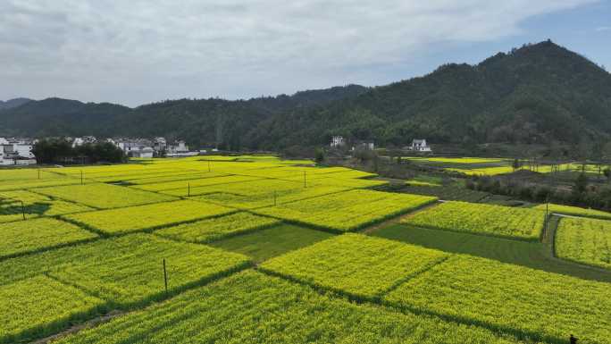
<svg viewBox="0 0 611 344">
<path fill-rule="evenodd" d="M 209 246 L 241 253 L 250 256 L 255 263 L 260 263 L 273 256 L 280 256 L 332 236 L 333 234 L 326 231 L 315 231 L 292 224 L 280 224 L 263 231 L 213 242 Z"/>
</svg>

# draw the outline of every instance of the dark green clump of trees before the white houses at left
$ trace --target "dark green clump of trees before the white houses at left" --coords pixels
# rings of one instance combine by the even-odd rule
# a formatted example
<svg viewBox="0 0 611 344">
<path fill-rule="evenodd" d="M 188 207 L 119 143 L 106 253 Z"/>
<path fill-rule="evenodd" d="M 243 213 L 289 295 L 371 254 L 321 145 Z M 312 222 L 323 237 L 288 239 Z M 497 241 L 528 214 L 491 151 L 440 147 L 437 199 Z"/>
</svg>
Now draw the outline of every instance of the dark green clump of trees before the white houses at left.
<svg viewBox="0 0 611 344">
<path fill-rule="evenodd" d="M 38 140 L 32 153 L 38 164 L 96 164 L 122 163 L 127 161 L 123 151 L 110 142 L 87 143 L 72 147 L 65 138 L 43 138 Z"/>
</svg>

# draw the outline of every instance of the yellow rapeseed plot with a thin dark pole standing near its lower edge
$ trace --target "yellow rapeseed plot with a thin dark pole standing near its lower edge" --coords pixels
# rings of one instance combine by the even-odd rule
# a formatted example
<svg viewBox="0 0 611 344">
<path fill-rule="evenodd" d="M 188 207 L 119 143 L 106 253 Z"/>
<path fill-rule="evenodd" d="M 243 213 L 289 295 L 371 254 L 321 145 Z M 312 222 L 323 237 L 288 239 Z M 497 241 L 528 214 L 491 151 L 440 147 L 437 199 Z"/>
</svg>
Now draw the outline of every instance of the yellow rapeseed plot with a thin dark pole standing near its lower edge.
<svg viewBox="0 0 611 344">
<path fill-rule="evenodd" d="M 247 256 L 148 234 L 121 237 L 117 241 L 118 246 L 130 249 L 110 258 L 105 257 L 105 252 L 96 252 L 95 256 L 66 264 L 48 274 L 115 306 L 128 307 L 165 296 L 163 259 L 170 293 L 249 264 Z"/>
</svg>

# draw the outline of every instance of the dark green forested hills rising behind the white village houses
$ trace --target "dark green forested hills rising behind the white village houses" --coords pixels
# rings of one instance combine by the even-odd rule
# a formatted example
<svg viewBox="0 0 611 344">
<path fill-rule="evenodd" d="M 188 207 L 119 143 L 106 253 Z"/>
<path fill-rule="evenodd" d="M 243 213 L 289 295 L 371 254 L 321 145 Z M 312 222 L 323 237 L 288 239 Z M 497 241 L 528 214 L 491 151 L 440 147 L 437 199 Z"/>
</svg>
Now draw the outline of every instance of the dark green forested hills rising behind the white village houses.
<svg viewBox="0 0 611 344">
<path fill-rule="evenodd" d="M 64 104 L 65 103 L 65 104 Z M 611 74 L 545 41 L 477 65 L 448 64 L 387 86 L 356 85 L 250 100 L 174 100 L 129 109 L 60 99 L 0 112 L 20 135 L 156 136 L 192 145 L 279 149 L 333 134 L 404 145 L 611 140 Z"/>
</svg>

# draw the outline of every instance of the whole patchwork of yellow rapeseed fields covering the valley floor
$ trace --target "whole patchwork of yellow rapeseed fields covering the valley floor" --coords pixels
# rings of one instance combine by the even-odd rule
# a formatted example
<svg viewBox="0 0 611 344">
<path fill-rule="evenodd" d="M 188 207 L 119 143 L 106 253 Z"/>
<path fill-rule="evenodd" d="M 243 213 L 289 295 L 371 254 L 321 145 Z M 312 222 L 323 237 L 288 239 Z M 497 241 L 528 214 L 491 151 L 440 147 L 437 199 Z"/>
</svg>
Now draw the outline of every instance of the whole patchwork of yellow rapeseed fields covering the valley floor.
<svg viewBox="0 0 611 344">
<path fill-rule="evenodd" d="M 478 159 L 432 163 L 504 164 Z M 543 235 L 541 206 L 414 181 L 275 155 L 0 169 L 0 344 L 611 343 L 603 214 L 556 207 L 592 223 Z"/>
</svg>

